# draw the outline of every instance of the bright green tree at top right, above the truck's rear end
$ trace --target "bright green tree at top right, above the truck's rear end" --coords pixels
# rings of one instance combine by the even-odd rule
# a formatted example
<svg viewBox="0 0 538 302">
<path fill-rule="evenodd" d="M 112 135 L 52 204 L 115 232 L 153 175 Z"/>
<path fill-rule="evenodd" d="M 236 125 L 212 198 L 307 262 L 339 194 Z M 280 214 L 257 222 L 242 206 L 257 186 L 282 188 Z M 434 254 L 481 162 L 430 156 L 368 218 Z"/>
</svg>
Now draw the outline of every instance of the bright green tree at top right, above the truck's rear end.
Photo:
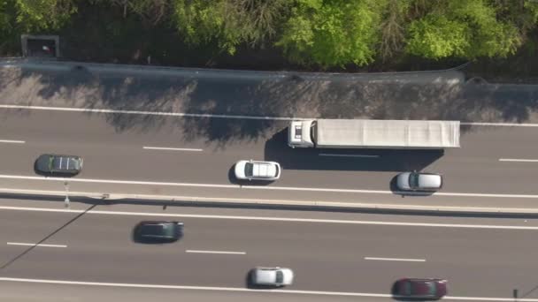
<svg viewBox="0 0 538 302">
<path fill-rule="evenodd" d="M 406 51 L 433 59 L 513 54 L 521 45 L 522 32 L 500 14 L 503 4 L 493 1 L 441 0 L 423 5 L 421 8 L 429 11 L 411 20 Z"/>
</svg>

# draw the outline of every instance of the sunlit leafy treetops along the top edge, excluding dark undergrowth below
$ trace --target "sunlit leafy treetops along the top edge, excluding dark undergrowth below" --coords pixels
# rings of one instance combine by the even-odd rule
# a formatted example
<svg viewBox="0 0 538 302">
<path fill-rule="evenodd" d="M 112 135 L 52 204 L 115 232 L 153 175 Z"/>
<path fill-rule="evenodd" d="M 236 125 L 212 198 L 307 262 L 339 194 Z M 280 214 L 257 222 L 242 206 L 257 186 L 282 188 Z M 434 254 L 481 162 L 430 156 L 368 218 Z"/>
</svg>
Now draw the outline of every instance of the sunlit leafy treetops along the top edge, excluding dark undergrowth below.
<svg viewBox="0 0 538 302">
<path fill-rule="evenodd" d="M 192 49 L 268 48 L 322 69 L 409 55 L 508 57 L 532 43 L 538 20 L 534 0 L 0 0 L 0 48 L 19 34 L 58 32 L 91 5 L 170 29 Z"/>
</svg>

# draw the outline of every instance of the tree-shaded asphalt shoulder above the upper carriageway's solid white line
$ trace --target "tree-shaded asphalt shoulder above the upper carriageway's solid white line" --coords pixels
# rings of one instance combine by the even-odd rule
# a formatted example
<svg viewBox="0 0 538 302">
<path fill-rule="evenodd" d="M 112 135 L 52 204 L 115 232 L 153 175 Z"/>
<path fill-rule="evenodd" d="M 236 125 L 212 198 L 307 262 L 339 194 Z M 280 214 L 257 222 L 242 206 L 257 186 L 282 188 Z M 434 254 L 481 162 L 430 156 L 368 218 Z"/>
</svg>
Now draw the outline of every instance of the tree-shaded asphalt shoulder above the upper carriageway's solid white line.
<svg viewBox="0 0 538 302">
<path fill-rule="evenodd" d="M 7 64 L 7 63 L 4 63 Z M 538 86 L 466 80 L 458 71 L 382 74 L 231 72 L 128 65 L 24 63 L 0 69 L 10 104 L 211 115 L 538 122 Z M 27 114 L 19 110 L 19 114 Z M 162 117 L 108 116 L 119 131 L 156 128 Z M 242 119 L 178 118 L 187 137 L 256 140 L 279 127 Z M 281 127 L 281 126 L 280 126 Z"/>
</svg>

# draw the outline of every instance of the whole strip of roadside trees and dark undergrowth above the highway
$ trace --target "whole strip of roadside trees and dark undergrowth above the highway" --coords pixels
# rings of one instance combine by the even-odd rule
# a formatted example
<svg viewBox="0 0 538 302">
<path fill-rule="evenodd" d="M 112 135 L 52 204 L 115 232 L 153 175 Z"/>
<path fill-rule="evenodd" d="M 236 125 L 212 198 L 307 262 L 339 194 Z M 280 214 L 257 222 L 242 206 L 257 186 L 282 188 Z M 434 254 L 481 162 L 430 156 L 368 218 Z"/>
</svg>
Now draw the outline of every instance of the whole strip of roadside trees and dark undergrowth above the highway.
<svg viewBox="0 0 538 302">
<path fill-rule="evenodd" d="M 388 71 L 535 57 L 537 20 L 534 0 L 0 0 L 0 52 L 59 34 L 81 60 Z"/>
</svg>

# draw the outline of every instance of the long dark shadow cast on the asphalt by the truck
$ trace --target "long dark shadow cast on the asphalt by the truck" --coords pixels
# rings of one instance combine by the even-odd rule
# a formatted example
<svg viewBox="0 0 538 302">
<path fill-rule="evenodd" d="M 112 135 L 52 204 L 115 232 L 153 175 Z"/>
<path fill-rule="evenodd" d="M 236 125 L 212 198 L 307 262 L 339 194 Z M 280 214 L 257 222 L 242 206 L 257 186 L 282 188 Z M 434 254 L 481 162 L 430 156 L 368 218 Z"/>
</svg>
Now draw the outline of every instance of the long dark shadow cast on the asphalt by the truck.
<svg viewBox="0 0 538 302">
<path fill-rule="evenodd" d="M 265 142 L 265 161 L 281 163 L 283 170 L 423 170 L 444 150 L 318 149 L 288 147 L 288 128 Z"/>
</svg>

